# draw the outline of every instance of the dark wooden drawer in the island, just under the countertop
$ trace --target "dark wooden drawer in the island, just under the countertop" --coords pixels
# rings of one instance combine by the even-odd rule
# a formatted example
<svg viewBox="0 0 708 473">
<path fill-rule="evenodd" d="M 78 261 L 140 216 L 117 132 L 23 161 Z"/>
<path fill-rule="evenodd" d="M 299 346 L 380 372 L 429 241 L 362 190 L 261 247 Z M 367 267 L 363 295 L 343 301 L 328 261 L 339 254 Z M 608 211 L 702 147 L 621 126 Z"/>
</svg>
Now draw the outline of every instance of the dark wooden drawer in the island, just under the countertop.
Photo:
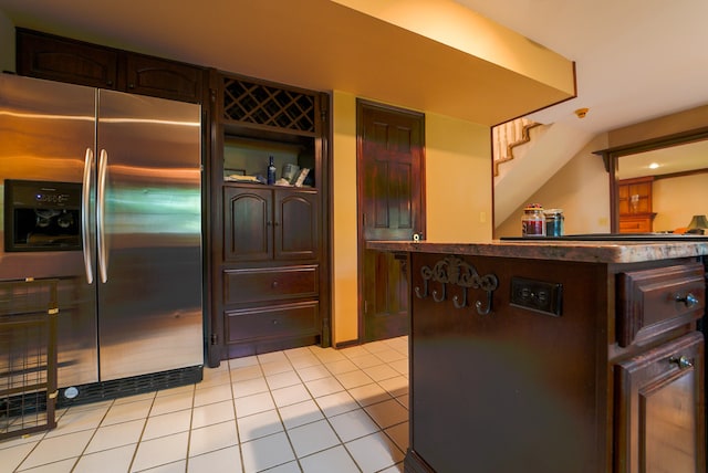
<svg viewBox="0 0 708 473">
<path fill-rule="evenodd" d="M 617 277 L 617 343 L 626 347 L 702 316 L 700 263 L 622 273 Z"/>
</svg>

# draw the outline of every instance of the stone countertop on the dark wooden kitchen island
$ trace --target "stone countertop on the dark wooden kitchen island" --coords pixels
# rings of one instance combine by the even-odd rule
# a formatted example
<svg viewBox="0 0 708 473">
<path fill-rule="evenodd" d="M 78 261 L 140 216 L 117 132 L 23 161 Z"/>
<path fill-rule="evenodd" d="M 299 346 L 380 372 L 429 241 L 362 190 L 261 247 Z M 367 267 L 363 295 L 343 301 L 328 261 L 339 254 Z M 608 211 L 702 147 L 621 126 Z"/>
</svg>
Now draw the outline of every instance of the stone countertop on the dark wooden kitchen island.
<svg viewBox="0 0 708 473">
<path fill-rule="evenodd" d="M 708 236 L 617 239 L 511 239 L 478 243 L 433 241 L 368 241 L 368 250 L 410 253 L 445 253 L 529 260 L 589 263 L 638 263 L 708 255 Z"/>
</svg>

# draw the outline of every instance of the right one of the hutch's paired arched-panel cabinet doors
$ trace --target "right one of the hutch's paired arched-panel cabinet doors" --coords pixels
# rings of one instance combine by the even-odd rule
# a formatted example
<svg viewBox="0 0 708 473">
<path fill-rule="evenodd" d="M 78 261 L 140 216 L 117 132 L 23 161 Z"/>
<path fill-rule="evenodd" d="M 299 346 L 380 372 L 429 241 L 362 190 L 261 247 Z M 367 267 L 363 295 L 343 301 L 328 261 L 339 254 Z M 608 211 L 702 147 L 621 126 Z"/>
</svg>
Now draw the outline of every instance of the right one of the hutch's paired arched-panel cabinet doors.
<svg viewBox="0 0 708 473">
<path fill-rule="evenodd" d="M 317 193 L 275 190 L 275 259 L 315 259 L 320 245 Z"/>
</svg>

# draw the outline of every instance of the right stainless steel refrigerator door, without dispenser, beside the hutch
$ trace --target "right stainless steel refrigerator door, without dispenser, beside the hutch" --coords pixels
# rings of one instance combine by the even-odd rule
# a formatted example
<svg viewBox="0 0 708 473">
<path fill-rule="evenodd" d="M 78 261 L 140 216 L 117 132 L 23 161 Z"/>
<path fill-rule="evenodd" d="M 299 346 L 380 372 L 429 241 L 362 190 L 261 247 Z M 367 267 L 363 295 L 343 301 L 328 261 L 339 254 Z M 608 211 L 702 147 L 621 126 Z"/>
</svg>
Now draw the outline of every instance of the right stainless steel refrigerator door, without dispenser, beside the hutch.
<svg viewBox="0 0 708 473">
<path fill-rule="evenodd" d="M 100 91 L 103 381 L 204 361 L 200 136 L 198 105 Z"/>
</svg>

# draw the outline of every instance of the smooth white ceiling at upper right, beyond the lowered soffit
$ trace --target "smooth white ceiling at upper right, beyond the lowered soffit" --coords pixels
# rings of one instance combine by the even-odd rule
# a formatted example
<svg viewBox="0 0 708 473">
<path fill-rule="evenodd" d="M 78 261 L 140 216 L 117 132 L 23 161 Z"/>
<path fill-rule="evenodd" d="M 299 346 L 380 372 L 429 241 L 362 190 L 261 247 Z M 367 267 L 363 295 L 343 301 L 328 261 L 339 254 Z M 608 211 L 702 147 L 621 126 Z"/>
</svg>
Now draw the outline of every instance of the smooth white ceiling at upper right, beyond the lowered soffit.
<svg viewBox="0 0 708 473">
<path fill-rule="evenodd" d="M 456 1 L 575 62 L 577 97 L 538 122 L 598 134 L 708 104 L 706 0 Z"/>
</svg>

